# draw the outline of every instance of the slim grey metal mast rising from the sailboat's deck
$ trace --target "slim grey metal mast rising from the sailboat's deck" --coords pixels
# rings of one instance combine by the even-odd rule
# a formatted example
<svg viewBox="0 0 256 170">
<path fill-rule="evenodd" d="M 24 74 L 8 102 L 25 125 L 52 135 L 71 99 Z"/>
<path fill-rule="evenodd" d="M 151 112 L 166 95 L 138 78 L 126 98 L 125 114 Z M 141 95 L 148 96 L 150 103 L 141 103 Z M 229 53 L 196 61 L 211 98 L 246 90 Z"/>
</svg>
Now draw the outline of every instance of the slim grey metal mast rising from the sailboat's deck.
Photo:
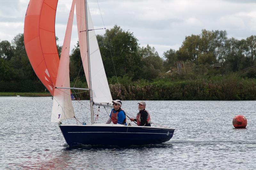
<svg viewBox="0 0 256 170">
<path fill-rule="evenodd" d="M 87 56 L 88 56 L 88 70 L 89 70 L 89 86 L 90 86 L 90 110 L 91 110 L 91 121 L 94 123 L 94 110 L 93 110 L 93 101 L 92 101 L 92 79 L 91 79 L 91 63 L 90 63 L 90 48 L 89 48 L 89 29 L 88 29 L 88 15 L 87 15 L 87 1 L 84 0 L 85 6 L 85 23 L 86 23 L 86 38 L 87 38 Z"/>
</svg>

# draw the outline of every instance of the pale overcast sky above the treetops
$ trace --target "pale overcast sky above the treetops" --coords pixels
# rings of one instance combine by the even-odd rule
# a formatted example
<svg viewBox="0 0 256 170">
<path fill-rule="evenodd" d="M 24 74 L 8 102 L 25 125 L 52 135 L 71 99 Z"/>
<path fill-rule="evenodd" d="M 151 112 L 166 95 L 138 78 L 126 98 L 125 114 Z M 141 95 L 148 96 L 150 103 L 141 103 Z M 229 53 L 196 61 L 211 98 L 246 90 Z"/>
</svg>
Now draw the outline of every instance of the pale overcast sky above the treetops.
<svg viewBox="0 0 256 170">
<path fill-rule="evenodd" d="M 11 41 L 23 33 L 27 0 L 0 0 L 0 40 Z M 72 1 L 59 0 L 55 32 L 62 45 Z M 256 35 L 256 0 L 88 0 L 94 28 L 120 26 L 133 32 L 140 46 L 155 47 L 160 56 L 170 48 L 178 50 L 185 36 L 202 29 L 226 30 L 228 37 L 245 39 Z M 100 10 L 99 10 L 99 6 Z M 74 15 L 75 16 L 75 15 Z M 105 31 L 95 31 L 104 34 Z M 71 49 L 76 45 L 74 18 Z"/>
</svg>

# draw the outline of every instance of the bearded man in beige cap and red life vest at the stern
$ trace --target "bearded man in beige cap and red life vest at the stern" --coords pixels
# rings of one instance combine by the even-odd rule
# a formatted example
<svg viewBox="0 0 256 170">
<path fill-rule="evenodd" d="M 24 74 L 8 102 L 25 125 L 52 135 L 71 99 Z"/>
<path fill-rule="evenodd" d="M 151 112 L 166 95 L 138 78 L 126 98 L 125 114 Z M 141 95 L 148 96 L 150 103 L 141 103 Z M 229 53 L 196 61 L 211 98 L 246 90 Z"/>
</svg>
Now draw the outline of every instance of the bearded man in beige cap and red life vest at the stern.
<svg viewBox="0 0 256 170">
<path fill-rule="evenodd" d="M 130 118 L 131 121 L 137 122 L 138 126 L 151 126 L 151 120 L 150 120 L 150 115 L 146 108 L 146 102 L 145 101 L 140 101 L 139 103 L 139 113 L 136 116 L 136 119 Z"/>
</svg>

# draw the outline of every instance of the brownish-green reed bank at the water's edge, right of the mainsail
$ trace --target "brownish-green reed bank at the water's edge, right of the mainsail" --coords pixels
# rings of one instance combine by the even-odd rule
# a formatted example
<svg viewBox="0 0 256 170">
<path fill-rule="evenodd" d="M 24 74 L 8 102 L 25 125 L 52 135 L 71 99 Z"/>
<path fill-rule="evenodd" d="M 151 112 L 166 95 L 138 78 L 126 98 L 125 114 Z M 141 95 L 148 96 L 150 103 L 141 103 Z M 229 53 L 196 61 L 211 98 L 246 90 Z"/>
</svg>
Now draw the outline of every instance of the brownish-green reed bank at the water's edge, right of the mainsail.
<svg viewBox="0 0 256 170">
<path fill-rule="evenodd" d="M 227 78 L 120 85 L 123 100 L 256 100 L 256 81 Z M 110 85 L 113 99 L 118 85 Z"/>
</svg>

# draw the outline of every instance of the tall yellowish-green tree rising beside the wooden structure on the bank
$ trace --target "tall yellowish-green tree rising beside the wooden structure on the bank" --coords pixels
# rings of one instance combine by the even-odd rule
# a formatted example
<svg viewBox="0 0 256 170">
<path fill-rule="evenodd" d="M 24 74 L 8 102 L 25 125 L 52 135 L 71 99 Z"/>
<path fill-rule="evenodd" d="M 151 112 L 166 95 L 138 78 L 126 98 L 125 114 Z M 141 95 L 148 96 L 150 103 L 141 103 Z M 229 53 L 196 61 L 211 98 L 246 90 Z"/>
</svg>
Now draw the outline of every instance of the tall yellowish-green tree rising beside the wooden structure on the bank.
<svg viewBox="0 0 256 170">
<path fill-rule="evenodd" d="M 194 61 L 197 64 L 213 64 L 223 61 L 225 55 L 226 31 L 202 30 L 200 35 L 187 36 L 177 51 L 179 60 Z"/>
</svg>

